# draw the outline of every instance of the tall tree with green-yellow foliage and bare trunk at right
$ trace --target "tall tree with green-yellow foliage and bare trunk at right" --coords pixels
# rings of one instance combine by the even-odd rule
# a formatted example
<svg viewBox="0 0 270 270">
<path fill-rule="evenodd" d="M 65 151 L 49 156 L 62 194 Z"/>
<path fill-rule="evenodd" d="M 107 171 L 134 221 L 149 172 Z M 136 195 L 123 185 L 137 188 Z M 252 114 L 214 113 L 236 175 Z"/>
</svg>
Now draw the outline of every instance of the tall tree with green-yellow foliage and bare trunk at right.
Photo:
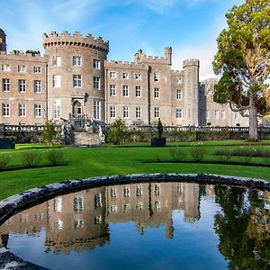
<svg viewBox="0 0 270 270">
<path fill-rule="evenodd" d="M 257 140 L 257 117 L 270 111 L 269 88 L 264 84 L 270 71 L 269 0 L 246 0 L 226 17 L 228 28 L 220 32 L 212 63 L 214 72 L 221 75 L 214 100 L 248 116 L 249 139 Z"/>
</svg>

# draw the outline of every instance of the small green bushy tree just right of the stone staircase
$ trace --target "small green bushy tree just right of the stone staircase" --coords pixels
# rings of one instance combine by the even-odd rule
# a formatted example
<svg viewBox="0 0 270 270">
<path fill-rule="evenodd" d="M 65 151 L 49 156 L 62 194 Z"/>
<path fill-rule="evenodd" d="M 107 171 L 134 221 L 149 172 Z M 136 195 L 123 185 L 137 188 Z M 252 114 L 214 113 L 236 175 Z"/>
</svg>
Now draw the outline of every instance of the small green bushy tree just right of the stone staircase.
<svg viewBox="0 0 270 270">
<path fill-rule="evenodd" d="M 107 132 L 107 139 L 115 145 L 120 145 L 127 134 L 127 126 L 121 118 L 115 120 L 110 124 Z"/>
</svg>

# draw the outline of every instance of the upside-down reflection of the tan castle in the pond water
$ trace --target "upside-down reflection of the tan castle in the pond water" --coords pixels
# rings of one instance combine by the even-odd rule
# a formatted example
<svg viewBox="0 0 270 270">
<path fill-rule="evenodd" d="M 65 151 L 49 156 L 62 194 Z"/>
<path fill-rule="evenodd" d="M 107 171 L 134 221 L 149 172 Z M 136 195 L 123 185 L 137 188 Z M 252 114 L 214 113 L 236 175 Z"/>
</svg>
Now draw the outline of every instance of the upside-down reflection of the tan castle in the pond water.
<svg viewBox="0 0 270 270">
<path fill-rule="evenodd" d="M 6 246 L 9 232 L 45 229 L 45 250 L 79 252 L 85 247 L 103 246 L 110 241 L 108 224 L 126 221 L 133 221 L 141 234 L 147 227 L 164 225 L 166 238 L 173 238 L 173 211 L 184 211 L 187 222 L 199 220 L 199 191 L 199 184 L 145 183 L 58 196 L 6 220 L 0 227 L 0 247 Z M 206 185 L 205 193 L 214 195 L 211 185 Z"/>
</svg>

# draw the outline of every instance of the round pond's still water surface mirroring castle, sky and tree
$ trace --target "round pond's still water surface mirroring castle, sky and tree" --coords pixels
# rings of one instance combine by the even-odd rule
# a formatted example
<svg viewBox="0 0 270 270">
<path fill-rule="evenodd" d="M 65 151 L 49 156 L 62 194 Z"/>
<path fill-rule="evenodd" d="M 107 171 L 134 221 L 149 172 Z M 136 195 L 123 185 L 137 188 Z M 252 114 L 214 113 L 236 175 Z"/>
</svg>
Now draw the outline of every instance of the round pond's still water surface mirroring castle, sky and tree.
<svg viewBox="0 0 270 270">
<path fill-rule="evenodd" d="M 0 227 L 0 247 L 49 269 L 269 269 L 270 192 L 136 183 L 58 195 Z"/>
</svg>

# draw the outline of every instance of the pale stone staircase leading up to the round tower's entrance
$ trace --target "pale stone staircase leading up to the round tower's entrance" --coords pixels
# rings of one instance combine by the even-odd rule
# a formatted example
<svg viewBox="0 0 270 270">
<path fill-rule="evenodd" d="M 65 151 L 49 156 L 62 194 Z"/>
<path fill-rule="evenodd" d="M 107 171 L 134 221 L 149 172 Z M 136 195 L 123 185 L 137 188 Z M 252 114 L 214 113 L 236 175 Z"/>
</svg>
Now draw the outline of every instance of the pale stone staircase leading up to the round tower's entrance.
<svg viewBox="0 0 270 270">
<path fill-rule="evenodd" d="M 75 146 L 93 146 L 101 145 L 102 141 L 99 134 L 89 133 L 85 130 L 72 130 L 71 131 L 72 144 Z"/>
</svg>

